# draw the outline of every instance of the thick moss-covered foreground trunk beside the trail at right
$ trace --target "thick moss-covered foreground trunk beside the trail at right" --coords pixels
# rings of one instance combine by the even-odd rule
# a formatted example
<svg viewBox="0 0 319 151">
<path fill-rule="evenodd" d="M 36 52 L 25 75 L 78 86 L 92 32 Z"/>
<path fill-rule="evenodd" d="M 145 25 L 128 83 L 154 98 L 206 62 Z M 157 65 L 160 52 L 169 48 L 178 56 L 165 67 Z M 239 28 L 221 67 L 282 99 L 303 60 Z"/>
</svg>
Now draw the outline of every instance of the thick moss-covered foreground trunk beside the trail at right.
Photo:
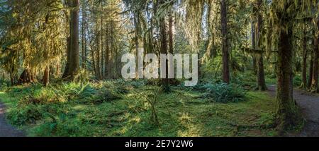
<svg viewBox="0 0 319 151">
<path fill-rule="evenodd" d="M 296 102 L 293 99 L 293 49 L 292 27 L 279 34 L 278 72 L 276 114 L 279 118 L 279 128 L 288 128 L 296 124 L 298 118 Z"/>
</svg>

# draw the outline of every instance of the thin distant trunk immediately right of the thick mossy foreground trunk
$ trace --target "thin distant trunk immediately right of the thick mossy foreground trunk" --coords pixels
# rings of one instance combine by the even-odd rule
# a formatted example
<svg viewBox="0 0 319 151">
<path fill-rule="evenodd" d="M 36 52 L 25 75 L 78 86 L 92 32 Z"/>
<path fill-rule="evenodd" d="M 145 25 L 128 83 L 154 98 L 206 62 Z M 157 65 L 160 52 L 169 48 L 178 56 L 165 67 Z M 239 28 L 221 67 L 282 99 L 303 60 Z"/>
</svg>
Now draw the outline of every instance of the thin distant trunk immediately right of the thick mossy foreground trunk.
<svg viewBox="0 0 319 151">
<path fill-rule="evenodd" d="M 306 25 L 303 27 L 303 83 L 301 83 L 301 88 L 306 89 L 307 87 L 307 37 L 306 37 Z"/>
</svg>

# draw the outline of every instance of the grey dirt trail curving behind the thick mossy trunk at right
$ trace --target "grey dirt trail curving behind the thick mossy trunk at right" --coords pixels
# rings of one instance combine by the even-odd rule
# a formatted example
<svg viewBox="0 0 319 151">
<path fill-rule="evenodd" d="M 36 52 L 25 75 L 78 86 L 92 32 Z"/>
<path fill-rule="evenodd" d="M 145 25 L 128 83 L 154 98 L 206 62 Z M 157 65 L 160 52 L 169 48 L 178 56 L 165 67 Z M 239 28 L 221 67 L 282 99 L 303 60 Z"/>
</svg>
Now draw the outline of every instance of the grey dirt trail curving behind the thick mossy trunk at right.
<svg viewBox="0 0 319 151">
<path fill-rule="evenodd" d="M 269 94 L 276 96 L 276 86 L 269 86 Z M 319 137 L 319 96 L 312 95 L 303 90 L 293 90 L 293 97 L 303 110 L 306 125 L 296 136 Z M 293 135 L 294 136 L 294 135 Z"/>
</svg>

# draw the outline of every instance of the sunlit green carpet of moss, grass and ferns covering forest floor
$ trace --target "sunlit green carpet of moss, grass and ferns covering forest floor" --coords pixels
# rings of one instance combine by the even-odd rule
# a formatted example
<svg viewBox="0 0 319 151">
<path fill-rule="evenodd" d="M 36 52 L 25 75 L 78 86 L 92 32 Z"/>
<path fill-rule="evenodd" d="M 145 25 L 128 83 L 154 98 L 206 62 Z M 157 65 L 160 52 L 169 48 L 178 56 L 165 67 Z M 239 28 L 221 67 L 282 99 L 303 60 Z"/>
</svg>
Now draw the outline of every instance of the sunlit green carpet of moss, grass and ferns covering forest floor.
<svg viewBox="0 0 319 151">
<path fill-rule="evenodd" d="M 9 121 L 30 136 L 277 135 L 275 102 L 267 92 L 206 84 L 154 96 L 158 88 L 146 80 L 33 84 L 6 88 L 0 98 Z M 157 97 L 159 123 L 150 119 L 143 96 Z"/>
</svg>

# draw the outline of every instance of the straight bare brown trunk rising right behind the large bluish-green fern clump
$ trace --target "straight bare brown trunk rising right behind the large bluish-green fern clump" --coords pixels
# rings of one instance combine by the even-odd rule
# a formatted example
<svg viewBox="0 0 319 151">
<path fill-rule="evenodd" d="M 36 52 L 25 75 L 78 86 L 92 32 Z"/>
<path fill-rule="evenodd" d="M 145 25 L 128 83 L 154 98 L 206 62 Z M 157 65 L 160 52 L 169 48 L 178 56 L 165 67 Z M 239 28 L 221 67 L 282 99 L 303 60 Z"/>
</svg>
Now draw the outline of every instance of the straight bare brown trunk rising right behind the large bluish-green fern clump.
<svg viewBox="0 0 319 151">
<path fill-rule="evenodd" d="M 220 18 L 221 18 L 222 53 L 223 53 L 223 82 L 224 83 L 230 83 L 227 10 L 228 10 L 227 1 L 221 0 Z"/>
</svg>

